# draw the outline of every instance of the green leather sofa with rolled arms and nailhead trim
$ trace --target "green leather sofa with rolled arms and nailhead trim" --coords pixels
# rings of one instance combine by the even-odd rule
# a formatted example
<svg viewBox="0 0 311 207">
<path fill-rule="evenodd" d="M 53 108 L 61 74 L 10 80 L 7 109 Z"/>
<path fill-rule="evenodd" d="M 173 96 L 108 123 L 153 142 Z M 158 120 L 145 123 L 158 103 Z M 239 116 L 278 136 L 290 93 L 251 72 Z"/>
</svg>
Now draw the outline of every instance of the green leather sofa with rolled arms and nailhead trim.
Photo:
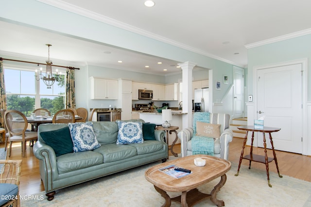
<svg viewBox="0 0 311 207">
<path fill-rule="evenodd" d="M 143 120 L 129 120 L 141 121 Z M 47 145 L 40 132 L 68 127 L 67 124 L 42 124 L 38 129 L 38 141 L 33 152 L 40 160 L 40 176 L 48 200 L 54 198 L 55 190 L 110 175 L 123 170 L 158 160 L 166 161 L 168 146 L 165 132 L 155 130 L 155 140 L 143 143 L 117 144 L 116 122 L 92 122 L 101 147 L 85 152 L 76 152 L 56 157 L 53 148 Z"/>
</svg>

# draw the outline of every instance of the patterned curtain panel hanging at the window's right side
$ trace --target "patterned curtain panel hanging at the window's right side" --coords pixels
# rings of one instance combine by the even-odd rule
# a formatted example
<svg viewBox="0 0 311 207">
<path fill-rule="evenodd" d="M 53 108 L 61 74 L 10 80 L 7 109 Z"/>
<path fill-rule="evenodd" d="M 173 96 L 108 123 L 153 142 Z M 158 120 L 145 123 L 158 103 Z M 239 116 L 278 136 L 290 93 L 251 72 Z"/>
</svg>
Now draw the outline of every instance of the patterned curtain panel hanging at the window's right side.
<svg viewBox="0 0 311 207">
<path fill-rule="evenodd" d="M 66 70 L 66 107 L 76 108 L 76 99 L 74 95 L 74 70 Z"/>
</svg>

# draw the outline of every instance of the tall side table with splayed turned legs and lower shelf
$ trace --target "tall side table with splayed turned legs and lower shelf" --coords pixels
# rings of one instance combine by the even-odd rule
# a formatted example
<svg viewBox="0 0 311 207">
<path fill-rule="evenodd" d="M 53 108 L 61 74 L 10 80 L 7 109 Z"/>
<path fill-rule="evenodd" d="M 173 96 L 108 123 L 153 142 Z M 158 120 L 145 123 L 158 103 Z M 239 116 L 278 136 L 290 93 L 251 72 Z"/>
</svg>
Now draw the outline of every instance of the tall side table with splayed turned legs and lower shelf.
<svg viewBox="0 0 311 207">
<path fill-rule="evenodd" d="M 274 127 L 263 127 L 263 129 L 258 129 L 258 128 L 254 128 L 254 126 L 241 126 L 241 127 L 238 127 L 238 129 L 246 131 L 246 135 L 245 135 L 245 138 L 244 138 L 244 143 L 243 143 L 243 148 L 242 148 L 242 152 L 241 152 L 238 172 L 237 172 L 237 174 L 235 174 L 235 176 L 239 175 L 242 159 L 248 159 L 249 160 L 249 167 L 248 167 L 248 169 L 251 169 L 251 162 L 252 161 L 261 162 L 261 163 L 264 163 L 266 165 L 267 177 L 268 177 L 268 185 L 269 185 L 269 187 L 272 187 L 272 185 L 270 184 L 270 178 L 269 178 L 269 162 L 272 162 L 273 160 L 275 160 L 275 162 L 276 162 L 276 170 L 277 170 L 278 176 L 279 177 L 283 177 L 282 175 L 280 175 L 280 172 L 278 170 L 277 159 L 276 159 L 276 152 L 274 150 L 272 136 L 271 136 L 272 132 L 277 132 L 277 131 L 279 131 L 281 129 L 280 128 L 274 128 Z M 248 134 L 249 131 L 252 132 L 251 151 L 250 151 L 249 155 L 245 155 L 243 157 L 244 148 L 245 148 L 245 144 L 246 144 L 246 141 L 247 141 L 247 134 Z M 264 146 L 264 156 L 253 154 L 254 132 L 262 132 L 262 135 L 263 135 L 263 146 Z M 271 142 L 272 151 L 273 151 L 273 158 L 268 158 L 268 155 L 267 155 L 267 144 L 266 144 L 265 133 L 269 133 L 270 142 Z"/>
</svg>

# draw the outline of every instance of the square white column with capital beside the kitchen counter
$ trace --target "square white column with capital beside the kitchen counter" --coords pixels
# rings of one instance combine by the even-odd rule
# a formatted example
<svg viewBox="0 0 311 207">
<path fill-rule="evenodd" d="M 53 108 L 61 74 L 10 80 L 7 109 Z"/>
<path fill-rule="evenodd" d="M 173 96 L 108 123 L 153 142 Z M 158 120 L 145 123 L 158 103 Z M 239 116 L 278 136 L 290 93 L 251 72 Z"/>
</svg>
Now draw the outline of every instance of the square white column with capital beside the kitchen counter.
<svg viewBox="0 0 311 207">
<path fill-rule="evenodd" d="M 195 63 L 185 62 L 178 64 L 182 69 L 183 75 L 183 128 L 192 126 L 192 69 Z"/>
</svg>

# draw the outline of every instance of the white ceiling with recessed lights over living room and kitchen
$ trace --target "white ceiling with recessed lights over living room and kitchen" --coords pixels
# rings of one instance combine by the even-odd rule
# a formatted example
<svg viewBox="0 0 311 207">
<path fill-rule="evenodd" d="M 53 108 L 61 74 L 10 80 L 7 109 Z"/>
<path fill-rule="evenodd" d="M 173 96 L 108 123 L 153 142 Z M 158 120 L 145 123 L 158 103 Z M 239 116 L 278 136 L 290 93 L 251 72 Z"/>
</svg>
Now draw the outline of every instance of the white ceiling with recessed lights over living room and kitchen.
<svg viewBox="0 0 311 207">
<path fill-rule="evenodd" d="M 39 1 L 239 66 L 247 66 L 245 46 L 311 33 L 310 0 L 154 0 L 151 8 L 144 0 Z M 162 75 L 180 72 L 176 61 L 3 21 L 0 27 L 6 31 L 0 32 L 0 54 L 45 60 L 49 43 L 51 59 L 64 62 Z M 163 64 L 156 64 L 159 61 Z"/>
</svg>

